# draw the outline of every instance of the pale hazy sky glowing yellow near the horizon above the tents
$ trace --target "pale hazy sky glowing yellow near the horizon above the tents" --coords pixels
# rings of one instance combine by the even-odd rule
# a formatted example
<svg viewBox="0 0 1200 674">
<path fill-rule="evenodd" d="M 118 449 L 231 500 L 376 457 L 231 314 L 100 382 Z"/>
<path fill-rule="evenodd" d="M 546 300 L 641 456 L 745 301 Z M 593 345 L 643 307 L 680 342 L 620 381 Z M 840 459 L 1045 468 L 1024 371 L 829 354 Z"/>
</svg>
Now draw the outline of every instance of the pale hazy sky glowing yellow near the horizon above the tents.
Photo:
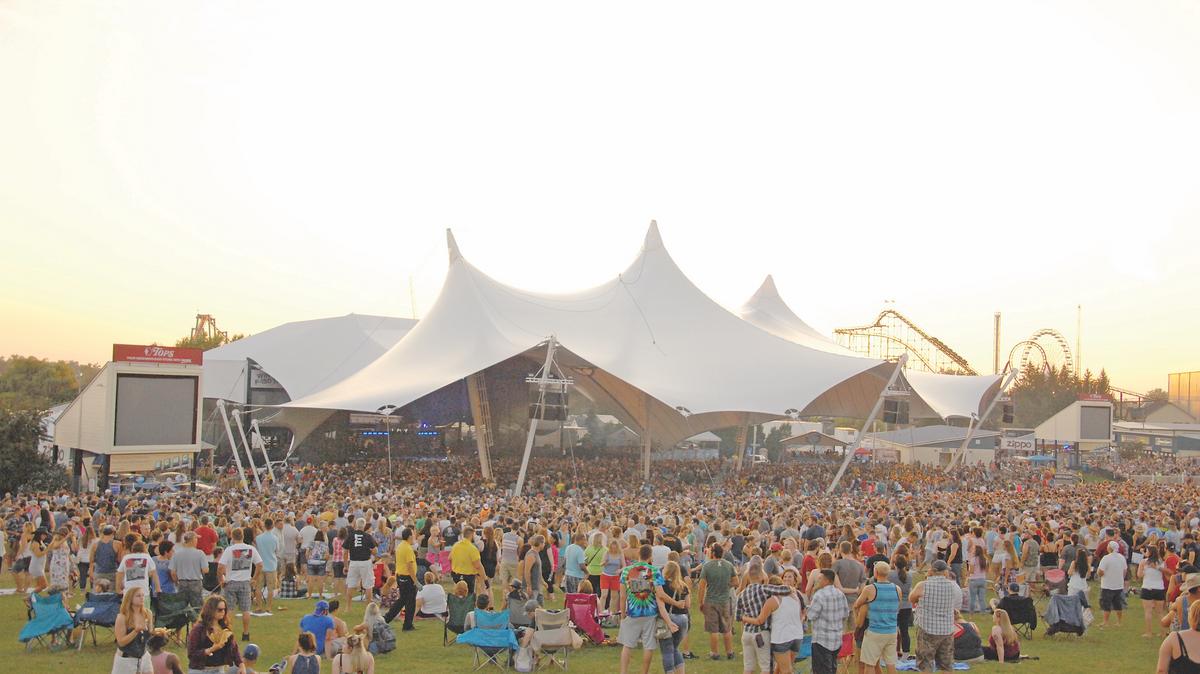
<svg viewBox="0 0 1200 674">
<path fill-rule="evenodd" d="M 1200 369 L 1200 2 L 0 0 L 0 353 L 569 290 L 650 218 L 736 308 Z"/>
</svg>

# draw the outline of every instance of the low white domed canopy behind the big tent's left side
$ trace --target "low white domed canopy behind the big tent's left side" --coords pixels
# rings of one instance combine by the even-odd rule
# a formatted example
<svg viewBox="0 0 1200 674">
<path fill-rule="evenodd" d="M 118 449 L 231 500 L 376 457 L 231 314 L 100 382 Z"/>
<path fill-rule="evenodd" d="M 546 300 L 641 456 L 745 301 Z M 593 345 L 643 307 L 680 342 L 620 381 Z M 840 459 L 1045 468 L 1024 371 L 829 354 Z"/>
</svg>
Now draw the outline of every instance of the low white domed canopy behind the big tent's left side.
<svg viewBox="0 0 1200 674">
<path fill-rule="evenodd" d="M 347 314 L 284 323 L 204 354 L 204 397 L 246 402 L 246 359 L 292 399 L 362 369 L 408 333 L 415 320 Z"/>
</svg>

